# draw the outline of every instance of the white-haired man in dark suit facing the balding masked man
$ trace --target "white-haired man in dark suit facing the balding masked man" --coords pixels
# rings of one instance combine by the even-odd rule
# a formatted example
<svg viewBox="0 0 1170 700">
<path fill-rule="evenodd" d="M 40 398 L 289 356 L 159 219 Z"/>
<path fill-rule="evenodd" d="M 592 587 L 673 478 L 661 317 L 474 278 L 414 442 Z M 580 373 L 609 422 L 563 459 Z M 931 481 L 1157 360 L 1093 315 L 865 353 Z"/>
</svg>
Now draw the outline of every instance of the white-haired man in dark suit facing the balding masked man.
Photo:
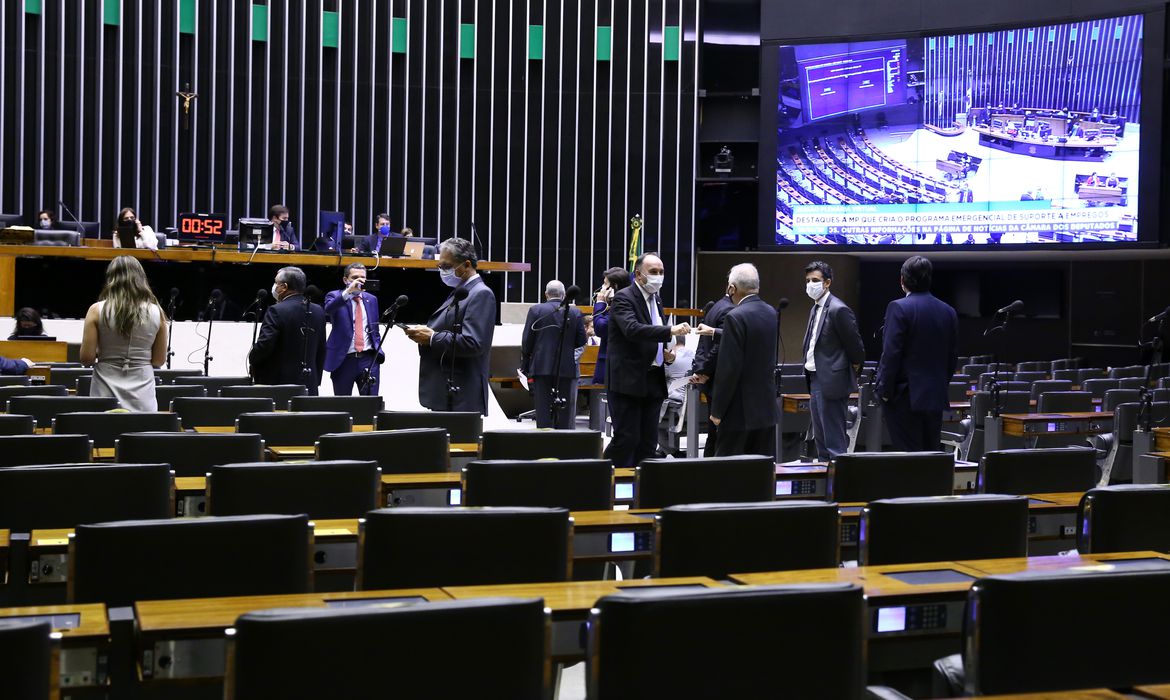
<svg viewBox="0 0 1170 700">
<path fill-rule="evenodd" d="M 773 454 L 776 309 L 759 298 L 759 272 L 748 262 L 731 268 L 728 296 L 736 306 L 723 317 L 720 338 L 710 409 L 720 431 L 715 455 Z"/>
</svg>

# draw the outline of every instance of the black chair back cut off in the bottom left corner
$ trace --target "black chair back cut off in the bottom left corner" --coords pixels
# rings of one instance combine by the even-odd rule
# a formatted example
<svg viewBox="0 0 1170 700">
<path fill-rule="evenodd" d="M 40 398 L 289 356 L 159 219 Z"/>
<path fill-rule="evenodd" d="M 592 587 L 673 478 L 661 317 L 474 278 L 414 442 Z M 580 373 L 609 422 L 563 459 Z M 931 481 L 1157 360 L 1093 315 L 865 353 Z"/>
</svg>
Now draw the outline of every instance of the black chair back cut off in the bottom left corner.
<svg viewBox="0 0 1170 700">
<path fill-rule="evenodd" d="M 58 666 L 60 651 L 49 620 L 0 618 L 0 695 L 57 698 L 53 673 Z"/>
</svg>

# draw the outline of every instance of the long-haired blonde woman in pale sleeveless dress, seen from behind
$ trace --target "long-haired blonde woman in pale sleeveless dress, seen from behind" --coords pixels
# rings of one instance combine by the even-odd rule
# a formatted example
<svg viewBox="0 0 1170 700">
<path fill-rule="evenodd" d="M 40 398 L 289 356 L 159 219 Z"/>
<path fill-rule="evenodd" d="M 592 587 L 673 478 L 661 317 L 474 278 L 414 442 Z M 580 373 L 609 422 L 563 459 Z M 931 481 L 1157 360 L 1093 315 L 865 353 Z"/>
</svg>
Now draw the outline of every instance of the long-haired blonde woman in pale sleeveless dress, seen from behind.
<svg viewBox="0 0 1170 700">
<path fill-rule="evenodd" d="M 111 396 L 128 411 L 157 411 L 154 368 L 166 362 L 166 315 L 136 258 L 105 268 L 105 286 L 85 314 L 81 361 L 94 365 L 90 396 Z"/>
</svg>

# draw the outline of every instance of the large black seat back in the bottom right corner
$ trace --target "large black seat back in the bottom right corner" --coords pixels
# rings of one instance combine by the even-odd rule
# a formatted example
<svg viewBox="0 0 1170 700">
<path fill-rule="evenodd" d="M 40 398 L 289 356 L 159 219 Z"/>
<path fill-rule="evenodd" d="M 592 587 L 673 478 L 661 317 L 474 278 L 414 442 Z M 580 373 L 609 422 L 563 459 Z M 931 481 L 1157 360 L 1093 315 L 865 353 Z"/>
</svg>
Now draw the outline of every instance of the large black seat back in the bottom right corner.
<svg viewBox="0 0 1170 700">
<path fill-rule="evenodd" d="M 966 691 L 993 695 L 1170 681 L 1162 648 L 1170 629 L 1168 586 L 1170 570 L 1138 563 L 1109 572 L 1033 571 L 976 581 L 964 630 Z"/>
</svg>

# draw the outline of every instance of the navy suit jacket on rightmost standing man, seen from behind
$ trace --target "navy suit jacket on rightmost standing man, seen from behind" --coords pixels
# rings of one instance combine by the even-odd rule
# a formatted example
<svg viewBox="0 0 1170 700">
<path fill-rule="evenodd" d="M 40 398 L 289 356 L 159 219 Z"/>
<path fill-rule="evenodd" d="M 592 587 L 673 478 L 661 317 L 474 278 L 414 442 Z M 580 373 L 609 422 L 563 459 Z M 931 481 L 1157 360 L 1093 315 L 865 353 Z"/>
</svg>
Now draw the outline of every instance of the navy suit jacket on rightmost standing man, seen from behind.
<svg viewBox="0 0 1170 700">
<path fill-rule="evenodd" d="M 911 411 L 945 410 L 957 337 L 958 314 L 929 291 L 889 302 L 878 396 L 894 400 L 909 392 Z"/>
</svg>

